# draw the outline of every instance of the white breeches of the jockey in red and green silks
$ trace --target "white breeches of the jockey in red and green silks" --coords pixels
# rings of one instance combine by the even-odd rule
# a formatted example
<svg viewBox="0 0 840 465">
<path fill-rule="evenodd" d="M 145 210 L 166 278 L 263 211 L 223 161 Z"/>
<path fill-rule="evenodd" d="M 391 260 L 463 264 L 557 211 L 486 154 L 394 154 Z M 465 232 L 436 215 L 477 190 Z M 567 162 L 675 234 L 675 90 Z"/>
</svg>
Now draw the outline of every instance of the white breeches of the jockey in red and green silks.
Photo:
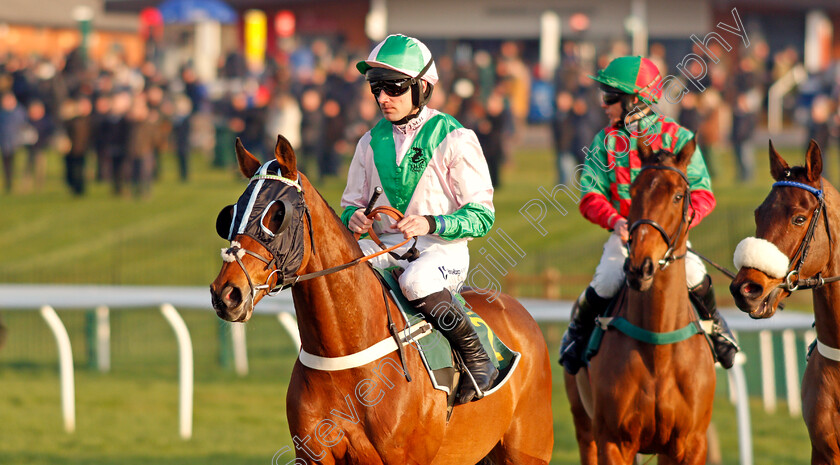
<svg viewBox="0 0 840 465">
<path fill-rule="evenodd" d="M 618 293 L 618 289 L 624 282 L 624 260 L 626 258 L 627 248 L 621 243 L 621 239 L 617 235 L 610 234 L 610 238 L 604 244 L 601 262 L 595 268 L 595 276 L 589 283 L 599 296 L 607 299 Z M 703 264 L 700 257 L 688 252 L 685 260 L 678 260 L 676 263 L 680 261 L 685 262 L 685 278 L 689 288 L 703 282 L 703 278 L 706 276 L 706 265 Z"/>
</svg>

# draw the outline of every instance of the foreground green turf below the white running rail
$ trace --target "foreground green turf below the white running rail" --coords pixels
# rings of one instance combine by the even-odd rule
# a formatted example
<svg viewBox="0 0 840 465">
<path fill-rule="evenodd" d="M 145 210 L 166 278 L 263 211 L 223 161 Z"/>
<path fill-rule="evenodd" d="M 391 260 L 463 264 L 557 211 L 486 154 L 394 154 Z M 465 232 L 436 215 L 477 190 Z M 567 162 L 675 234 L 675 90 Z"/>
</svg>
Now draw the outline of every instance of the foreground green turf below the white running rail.
<svg viewBox="0 0 840 465">
<path fill-rule="evenodd" d="M 112 370 L 99 373 L 86 353 L 84 312 L 60 311 L 76 360 L 77 429 L 62 429 L 55 343 L 34 312 L 6 312 L 8 346 L 0 351 L 0 463 L 270 464 L 291 446 L 285 389 L 295 350 L 280 324 L 257 315 L 246 326 L 250 373 L 218 363 L 218 334 L 228 331 L 210 311 L 183 311 L 195 353 L 194 434 L 178 437 L 177 347 L 156 309 L 112 312 Z M 25 331 L 24 331 L 25 329 Z M 543 325 L 553 352 L 563 327 Z M 552 464 L 574 464 L 577 450 L 559 366 L 554 378 Z M 713 422 L 724 463 L 737 463 L 734 407 L 718 370 Z M 809 456 L 805 427 L 786 406 L 765 414 L 751 401 L 756 464 L 801 464 Z M 287 454 L 285 457 L 291 457 Z M 281 461 L 280 463 L 286 463 Z"/>
</svg>

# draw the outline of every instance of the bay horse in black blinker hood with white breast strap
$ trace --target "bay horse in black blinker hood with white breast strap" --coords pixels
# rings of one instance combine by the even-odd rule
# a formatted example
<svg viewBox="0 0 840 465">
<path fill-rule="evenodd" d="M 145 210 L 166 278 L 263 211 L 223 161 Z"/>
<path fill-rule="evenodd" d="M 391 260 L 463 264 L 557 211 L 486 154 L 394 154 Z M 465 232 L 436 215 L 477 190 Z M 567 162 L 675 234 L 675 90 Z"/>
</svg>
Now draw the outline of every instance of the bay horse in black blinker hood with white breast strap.
<svg viewBox="0 0 840 465">
<path fill-rule="evenodd" d="M 210 291 L 219 317 L 244 322 L 272 289 L 291 286 L 302 350 L 286 396 L 297 456 L 289 463 L 548 464 L 554 441 L 548 349 L 530 314 L 507 295 L 488 302 L 480 290 L 463 293 L 471 309 L 522 354 L 519 366 L 499 390 L 456 405 L 448 419 L 446 393 L 432 387 L 411 346 L 403 352 L 405 371 L 396 347 L 347 369 L 302 363 L 304 353 L 328 361 L 356 357 L 389 340 L 389 312 L 396 304 L 370 266 L 345 266 L 358 262 L 361 249 L 297 170 L 295 153 L 282 136 L 274 155 L 261 164 L 237 140 L 239 169 L 251 179 L 243 196 L 276 192 L 279 200 L 254 196 L 248 221 L 256 224 L 242 221 L 230 232 L 231 248 L 223 251 L 225 263 Z M 259 182 L 264 184 L 256 186 Z M 270 233 L 280 244 L 266 246 L 254 231 Z M 402 329 L 402 321 L 394 320 Z"/>
</svg>

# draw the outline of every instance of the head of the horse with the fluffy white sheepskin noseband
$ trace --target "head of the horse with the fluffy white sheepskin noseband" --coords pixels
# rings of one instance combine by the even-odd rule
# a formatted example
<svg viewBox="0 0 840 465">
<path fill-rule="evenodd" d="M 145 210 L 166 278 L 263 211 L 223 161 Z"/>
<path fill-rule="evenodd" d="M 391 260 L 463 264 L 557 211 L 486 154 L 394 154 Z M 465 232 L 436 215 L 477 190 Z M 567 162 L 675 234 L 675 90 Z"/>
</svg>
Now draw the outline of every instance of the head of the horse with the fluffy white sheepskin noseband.
<svg viewBox="0 0 840 465">
<path fill-rule="evenodd" d="M 729 286 L 735 304 L 753 318 L 773 316 L 796 282 L 819 273 L 831 256 L 817 143 L 808 146 L 805 166 L 791 168 L 770 142 L 770 174 L 776 182 L 755 209 L 755 237 L 735 249 L 739 270 Z"/>
</svg>

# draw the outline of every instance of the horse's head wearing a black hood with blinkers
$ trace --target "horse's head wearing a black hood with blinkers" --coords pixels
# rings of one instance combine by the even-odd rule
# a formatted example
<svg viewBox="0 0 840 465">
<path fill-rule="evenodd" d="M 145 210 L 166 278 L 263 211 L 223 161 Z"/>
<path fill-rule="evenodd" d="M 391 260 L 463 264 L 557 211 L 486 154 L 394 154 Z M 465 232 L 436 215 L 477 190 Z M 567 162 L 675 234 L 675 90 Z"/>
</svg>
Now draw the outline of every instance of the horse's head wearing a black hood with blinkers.
<svg viewBox="0 0 840 465">
<path fill-rule="evenodd" d="M 222 269 L 210 284 L 213 308 L 227 321 L 251 318 L 263 296 L 294 282 L 308 257 L 305 236 L 311 220 L 301 187 L 304 179 L 283 136 L 277 137 L 274 156 L 260 164 L 236 140 L 239 170 L 250 182 L 216 219 L 216 232 L 230 247 L 222 249 Z"/>
</svg>

